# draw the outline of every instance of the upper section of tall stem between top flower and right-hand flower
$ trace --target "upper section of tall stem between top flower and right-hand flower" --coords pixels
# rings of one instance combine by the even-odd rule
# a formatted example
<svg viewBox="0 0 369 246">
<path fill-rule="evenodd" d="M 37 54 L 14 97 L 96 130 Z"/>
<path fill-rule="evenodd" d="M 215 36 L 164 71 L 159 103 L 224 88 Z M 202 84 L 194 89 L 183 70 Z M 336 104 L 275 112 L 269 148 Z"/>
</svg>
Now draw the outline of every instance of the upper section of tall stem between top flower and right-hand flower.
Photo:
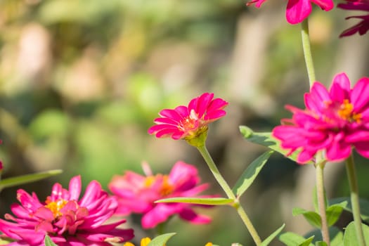
<svg viewBox="0 0 369 246">
<path fill-rule="evenodd" d="M 313 64 L 313 56 L 311 55 L 310 38 L 309 38 L 309 20 L 306 18 L 301 23 L 302 48 L 304 50 L 304 58 L 306 70 L 309 76 L 309 85 L 313 86 L 315 79 L 315 70 Z"/>
</svg>

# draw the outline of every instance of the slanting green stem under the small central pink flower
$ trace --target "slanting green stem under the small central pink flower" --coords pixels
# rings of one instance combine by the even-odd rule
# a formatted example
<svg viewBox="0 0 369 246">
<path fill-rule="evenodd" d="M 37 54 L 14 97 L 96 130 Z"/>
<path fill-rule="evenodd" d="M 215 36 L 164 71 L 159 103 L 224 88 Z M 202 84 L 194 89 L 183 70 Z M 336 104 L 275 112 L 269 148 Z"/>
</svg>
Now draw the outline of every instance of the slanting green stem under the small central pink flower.
<svg viewBox="0 0 369 246">
<path fill-rule="evenodd" d="M 228 186 L 228 183 L 224 180 L 223 176 L 221 176 L 221 173 L 219 172 L 219 169 L 216 167 L 214 160 L 209 154 L 209 151 L 207 151 L 206 146 L 200 145 L 200 146 L 196 146 L 196 148 L 198 148 L 198 150 L 200 151 L 202 157 L 207 163 L 207 166 L 209 167 L 210 171 L 212 171 L 214 178 L 216 179 L 216 181 L 218 181 L 221 188 L 223 188 L 227 197 L 235 201 L 235 204 L 233 205 L 233 207 L 235 207 L 235 209 L 237 210 L 238 215 L 240 216 L 247 230 L 251 234 L 252 239 L 254 240 L 255 244 L 261 245 L 261 239 L 259 237 L 259 234 L 257 233 L 256 229 L 252 225 L 252 222 L 250 221 L 249 216 L 247 216 L 245 212 L 245 209 L 242 208 L 242 206 L 238 202 L 238 199 L 235 197 L 235 194 L 232 192 L 232 189 Z"/>
</svg>

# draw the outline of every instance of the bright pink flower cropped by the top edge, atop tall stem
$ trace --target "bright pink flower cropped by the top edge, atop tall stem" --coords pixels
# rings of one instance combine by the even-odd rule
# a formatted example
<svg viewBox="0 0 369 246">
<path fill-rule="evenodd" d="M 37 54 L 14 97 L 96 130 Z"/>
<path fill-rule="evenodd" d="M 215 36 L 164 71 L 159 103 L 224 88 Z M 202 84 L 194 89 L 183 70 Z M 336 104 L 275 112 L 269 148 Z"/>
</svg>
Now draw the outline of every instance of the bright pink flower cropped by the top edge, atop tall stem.
<svg viewBox="0 0 369 246">
<path fill-rule="evenodd" d="M 255 4 L 260 8 L 261 4 L 266 0 L 252 0 L 247 3 L 247 6 Z M 290 24 L 297 24 L 305 20 L 311 13 L 311 2 L 318 5 L 324 11 L 330 11 L 335 4 L 332 0 L 288 0 L 286 9 L 286 19 Z"/>
</svg>

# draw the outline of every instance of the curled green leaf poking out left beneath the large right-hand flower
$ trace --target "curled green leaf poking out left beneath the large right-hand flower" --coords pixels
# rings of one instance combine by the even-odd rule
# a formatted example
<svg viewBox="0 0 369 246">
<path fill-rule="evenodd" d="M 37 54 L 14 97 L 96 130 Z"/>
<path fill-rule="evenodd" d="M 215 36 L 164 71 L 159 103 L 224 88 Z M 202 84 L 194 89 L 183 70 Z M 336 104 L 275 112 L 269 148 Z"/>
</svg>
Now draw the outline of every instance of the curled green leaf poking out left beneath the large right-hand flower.
<svg viewBox="0 0 369 246">
<path fill-rule="evenodd" d="M 240 126 L 240 132 L 247 141 L 263 145 L 270 148 L 271 150 L 281 153 L 282 155 L 286 156 L 290 152 L 290 150 L 285 150 L 280 147 L 280 142 L 276 138 L 273 138 L 273 136 L 271 136 L 271 132 L 255 132 L 246 126 Z M 298 153 L 299 151 L 295 151 L 287 157 L 296 162 Z M 311 164 L 312 162 L 307 163 Z"/>
</svg>

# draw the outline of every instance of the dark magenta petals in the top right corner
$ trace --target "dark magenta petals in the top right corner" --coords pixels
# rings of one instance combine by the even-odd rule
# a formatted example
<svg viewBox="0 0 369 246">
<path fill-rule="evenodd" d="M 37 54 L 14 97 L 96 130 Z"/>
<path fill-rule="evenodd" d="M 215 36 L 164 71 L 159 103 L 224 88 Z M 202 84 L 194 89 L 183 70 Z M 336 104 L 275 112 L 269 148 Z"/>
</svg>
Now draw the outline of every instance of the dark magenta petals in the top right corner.
<svg viewBox="0 0 369 246">
<path fill-rule="evenodd" d="M 366 11 L 367 15 L 355 15 L 355 16 L 349 16 L 346 19 L 351 18 L 358 18 L 361 20 L 361 22 L 358 22 L 358 24 L 354 25 L 353 27 L 350 27 L 347 30 L 344 30 L 342 34 L 339 35 L 339 37 L 346 37 L 351 36 L 353 34 L 363 35 L 369 30 L 369 0 L 345 0 L 345 4 L 338 4 L 338 8 L 347 9 L 350 11 Z"/>
</svg>

